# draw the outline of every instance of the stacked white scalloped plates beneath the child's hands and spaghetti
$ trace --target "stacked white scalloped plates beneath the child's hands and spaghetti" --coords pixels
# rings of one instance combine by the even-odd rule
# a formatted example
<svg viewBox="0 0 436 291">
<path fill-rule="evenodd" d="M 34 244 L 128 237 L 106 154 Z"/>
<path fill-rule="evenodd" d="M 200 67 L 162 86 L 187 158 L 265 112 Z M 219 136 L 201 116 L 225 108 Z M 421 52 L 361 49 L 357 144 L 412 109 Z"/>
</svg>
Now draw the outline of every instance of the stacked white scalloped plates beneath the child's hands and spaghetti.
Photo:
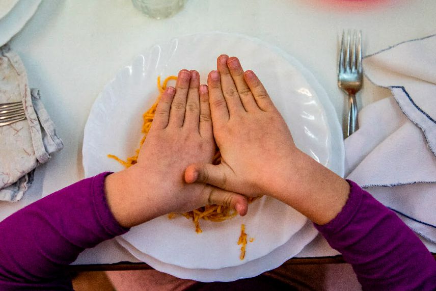
<svg viewBox="0 0 436 291">
<path fill-rule="evenodd" d="M 299 62 L 276 47 L 247 36 L 207 33 L 179 37 L 144 51 L 122 69 L 96 99 L 85 127 L 83 163 L 87 177 L 122 166 L 106 157 L 131 155 L 141 139 L 142 113 L 157 97 L 156 78 L 196 69 L 202 83 L 221 54 L 237 56 L 254 70 L 282 113 L 296 145 L 343 175 L 342 130 L 323 88 Z M 244 260 L 236 243 L 241 224 L 248 237 Z M 213 223 L 203 232 L 184 217 L 156 218 L 133 227 L 117 241 L 156 270 L 198 281 L 232 281 L 274 269 L 310 243 L 312 223 L 288 205 L 263 197 L 246 217 Z"/>
</svg>

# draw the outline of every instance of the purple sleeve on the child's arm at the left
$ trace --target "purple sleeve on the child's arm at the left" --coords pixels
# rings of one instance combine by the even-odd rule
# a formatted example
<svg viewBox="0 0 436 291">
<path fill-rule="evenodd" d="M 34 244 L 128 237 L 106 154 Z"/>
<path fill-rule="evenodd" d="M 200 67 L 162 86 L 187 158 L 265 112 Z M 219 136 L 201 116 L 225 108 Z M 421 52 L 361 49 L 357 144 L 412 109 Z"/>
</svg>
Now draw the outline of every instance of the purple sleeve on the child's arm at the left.
<svg viewBox="0 0 436 291">
<path fill-rule="evenodd" d="M 72 289 L 66 266 L 127 231 L 107 205 L 108 174 L 72 184 L 0 223 L 0 290 Z"/>
</svg>

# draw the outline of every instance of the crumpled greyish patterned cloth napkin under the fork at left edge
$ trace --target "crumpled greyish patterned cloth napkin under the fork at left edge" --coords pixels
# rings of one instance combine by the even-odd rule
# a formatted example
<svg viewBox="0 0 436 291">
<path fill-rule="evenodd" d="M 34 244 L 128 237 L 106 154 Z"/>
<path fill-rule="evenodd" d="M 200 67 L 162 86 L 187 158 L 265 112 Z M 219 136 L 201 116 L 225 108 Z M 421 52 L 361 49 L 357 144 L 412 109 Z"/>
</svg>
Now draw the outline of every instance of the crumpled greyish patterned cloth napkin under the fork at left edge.
<svg viewBox="0 0 436 291">
<path fill-rule="evenodd" d="M 29 188 L 33 172 L 63 143 L 41 102 L 30 89 L 19 56 L 8 45 L 0 47 L 0 103 L 22 101 L 26 119 L 0 127 L 0 200 L 18 201 Z"/>
</svg>

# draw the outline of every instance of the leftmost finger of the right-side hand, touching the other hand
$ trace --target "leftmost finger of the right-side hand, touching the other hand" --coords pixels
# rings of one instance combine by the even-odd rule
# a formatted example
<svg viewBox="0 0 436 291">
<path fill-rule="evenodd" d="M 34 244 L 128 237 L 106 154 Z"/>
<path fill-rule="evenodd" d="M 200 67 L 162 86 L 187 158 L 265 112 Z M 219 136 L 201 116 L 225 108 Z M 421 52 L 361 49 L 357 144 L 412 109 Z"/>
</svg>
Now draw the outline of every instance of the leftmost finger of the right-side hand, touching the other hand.
<svg viewBox="0 0 436 291">
<path fill-rule="evenodd" d="M 229 110 L 221 89 L 220 73 L 211 71 L 207 77 L 209 87 L 210 114 L 213 125 L 221 125 L 229 120 Z"/>
</svg>

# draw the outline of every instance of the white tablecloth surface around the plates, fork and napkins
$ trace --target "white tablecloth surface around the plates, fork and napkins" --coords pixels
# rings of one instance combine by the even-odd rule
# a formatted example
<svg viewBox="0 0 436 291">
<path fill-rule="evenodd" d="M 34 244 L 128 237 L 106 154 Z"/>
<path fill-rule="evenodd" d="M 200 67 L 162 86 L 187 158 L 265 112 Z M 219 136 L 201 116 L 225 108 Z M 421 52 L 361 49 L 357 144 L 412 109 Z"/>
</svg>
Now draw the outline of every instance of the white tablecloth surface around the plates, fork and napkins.
<svg viewBox="0 0 436 291">
<path fill-rule="evenodd" d="M 10 42 L 28 70 L 32 88 L 57 126 L 65 148 L 40 166 L 17 203 L 0 202 L 0 220 L 84 178 L 83 130 L 104 85 L 144 49 L 180 35 L 221 31 L 257 37 L 287 51 L 325 88 L 345 128 L 347 100 L 337 87 L 337 54 L 343 29 L 361 29 L 364 55 L 436 33 L 434 0 L 188 0 L 177 15 L 145 17 L 130 1 L 43 1 Z M 223 52 L 225 53 L 225 52 Z M 362 108 L 390 92 L 365 80 Z M 432 251 L 436 246 L 427 244 Z M 335 256 L 318 236 L 298 257 Z M 340 260 L 340 259 L 339 259 Z M 82 253 L 76 264 L 139 262 L 114 241 Z"/>
</svg>

